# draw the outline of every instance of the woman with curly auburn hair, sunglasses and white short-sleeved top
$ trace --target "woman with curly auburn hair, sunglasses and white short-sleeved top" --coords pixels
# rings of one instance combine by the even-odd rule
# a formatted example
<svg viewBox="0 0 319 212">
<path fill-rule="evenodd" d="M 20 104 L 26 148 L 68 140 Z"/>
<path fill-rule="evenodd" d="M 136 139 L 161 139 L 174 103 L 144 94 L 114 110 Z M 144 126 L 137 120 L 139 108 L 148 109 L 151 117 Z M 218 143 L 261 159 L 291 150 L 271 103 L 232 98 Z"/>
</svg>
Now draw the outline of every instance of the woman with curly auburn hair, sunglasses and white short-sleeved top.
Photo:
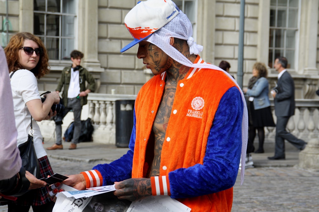
<svg viewBox="0 0 319 212">
<path fill-rule="evenodd" d="M 11 77 L 15 124 L 18 130 L 18 146 L 28 139 L 32 120 L 33 142 L 40 166 L 40 178 L 52 175 L 53 171 L 47 153 L 42 146 L 42 135 L 36 121 L 48 120 L 53 104 L 59 103 L 56 92 L 48 93 L 42 103 L 37 79 L 49 72 L 48 54 L 40 38 L 28 32 L 19 32 L 12 36 L 4 48 Z M 31 118 L 32 117 L 32 118 Z M 54 202 L 47 197 L 48 187 L 42 187 L 19 196 L 17 201 L 8 203 L 8 212 L 52 211 Z"/>
</svg>

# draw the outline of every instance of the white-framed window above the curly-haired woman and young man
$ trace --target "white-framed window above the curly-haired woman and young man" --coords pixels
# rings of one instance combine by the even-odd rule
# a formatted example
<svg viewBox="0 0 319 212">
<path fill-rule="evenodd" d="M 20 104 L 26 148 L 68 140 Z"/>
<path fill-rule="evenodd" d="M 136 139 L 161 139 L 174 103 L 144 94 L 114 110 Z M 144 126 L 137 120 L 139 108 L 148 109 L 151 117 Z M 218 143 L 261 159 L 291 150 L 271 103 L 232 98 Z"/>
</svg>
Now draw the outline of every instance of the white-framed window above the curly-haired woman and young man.
<svg viewBox="0 0 319 212">
<path fill-rule="evenodd" d="M 74 49 L 76 0 L 34 0 L 34 34 L 44 42 L 49 59 L 70 59 Z"/>
</svg>

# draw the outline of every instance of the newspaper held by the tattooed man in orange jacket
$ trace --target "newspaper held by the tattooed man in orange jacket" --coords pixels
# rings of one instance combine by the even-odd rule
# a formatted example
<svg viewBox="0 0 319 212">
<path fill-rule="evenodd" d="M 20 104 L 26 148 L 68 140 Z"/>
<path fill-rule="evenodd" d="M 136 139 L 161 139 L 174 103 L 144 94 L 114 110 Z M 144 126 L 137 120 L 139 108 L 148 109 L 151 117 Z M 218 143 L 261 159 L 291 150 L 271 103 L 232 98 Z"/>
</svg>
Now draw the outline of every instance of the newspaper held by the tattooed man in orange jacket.
<svg viewBox="0 0 319 212">
<path fill-rule="evenodd" d="M 189 212 L 170 196 L 149 196 L 137 201 L 119 200 L 114 186 L 60 192 L 52 212 Z"/>
</svg>

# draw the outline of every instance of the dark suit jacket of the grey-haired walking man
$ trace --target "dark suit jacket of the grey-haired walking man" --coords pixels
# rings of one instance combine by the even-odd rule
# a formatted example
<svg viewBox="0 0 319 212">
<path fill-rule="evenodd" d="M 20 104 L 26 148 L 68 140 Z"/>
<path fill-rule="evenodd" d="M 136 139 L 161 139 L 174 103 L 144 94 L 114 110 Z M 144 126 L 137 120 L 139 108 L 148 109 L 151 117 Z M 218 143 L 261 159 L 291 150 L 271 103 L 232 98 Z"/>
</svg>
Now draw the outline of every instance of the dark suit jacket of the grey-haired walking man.
<svg viewBox="0 0 319 212">
<path fill-rule="evenodd" d="M 293 116 L 295 114 L 295 85 L 293 78 L 286 71 L 278 80 L 278 93 L 275 97 L 276 116 Z"/>
</svg>

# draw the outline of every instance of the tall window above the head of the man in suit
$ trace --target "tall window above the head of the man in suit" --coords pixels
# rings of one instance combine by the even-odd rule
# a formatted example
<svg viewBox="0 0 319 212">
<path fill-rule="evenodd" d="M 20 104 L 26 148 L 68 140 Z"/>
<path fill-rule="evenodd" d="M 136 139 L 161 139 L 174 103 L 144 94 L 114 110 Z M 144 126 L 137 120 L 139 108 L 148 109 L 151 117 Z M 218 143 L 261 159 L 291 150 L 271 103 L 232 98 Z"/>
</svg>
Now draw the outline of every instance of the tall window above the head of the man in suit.
<svg viewBox="0 0 319 212">
<path fill-rule="evenodd" d="M 279 56 L 288 59 L 288 67 L 296 67 L 297 33 L 299 27 L 299 0 L 271 0 L 269 66 Z"/>
</svg>

